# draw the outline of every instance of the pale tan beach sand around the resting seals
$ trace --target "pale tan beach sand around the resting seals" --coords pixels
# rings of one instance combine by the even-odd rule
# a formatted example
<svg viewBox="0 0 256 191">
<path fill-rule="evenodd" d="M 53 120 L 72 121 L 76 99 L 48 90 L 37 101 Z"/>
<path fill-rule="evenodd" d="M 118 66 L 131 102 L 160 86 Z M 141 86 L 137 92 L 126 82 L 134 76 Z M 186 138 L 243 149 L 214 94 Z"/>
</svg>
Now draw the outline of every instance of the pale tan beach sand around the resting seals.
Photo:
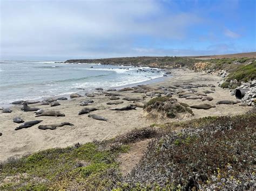
<svg viewBox="0 0 256 191">
<path fill-rule="evenodd" d="M 212 74 L 195 73 L 188 69 L 173 69 L 173 77 L 167 78 L 166 81 L 156 84 L 150 84 L 152 87 L 169 86 L 177 83 L 199 83 L 199 84 L 215 84 L 215 93 L 210 94 L 214 98 L 213 101 L 205 101 L 203 103 L 215 104 L 220 100 L 235 100 L 234 96 L 230 95 L 228 89 L 218 87 L 220 77 Z M 103 87 L 104 88 L 104 87 Z M 198 90 L 210 90 L 210 87 L 198 88 Z M 131 93 L 131 91 L 119 92 L 123 96 L 141 96 L 139 93 Z M 178 98 L 177 95 L 173 96 Z M 89 97 L 90 98 L 90 97 Z M 99 108 L 97 111 L 91 112 L 109 119 L 108 122 L 97 121 L 85 115 L 78 115 L 78 112 L 84 108 L 80 106 L 79 102 L 86 100 L 87 97 L 79 97 L 68 101 L 59 101 L 61 105 L 50 107 L 50 105 L 32 104 L 30 107 L 38 107 L 47 110 L 62 111 L 65 117 L 35 117 L 33 112 L 23 112 L 17 106 L 13 106 L 11 113 L 0 113 L 0 132 L 3 135 L 0 137 L 0 161 L 4 161 L 12 156 L 21 156 L 24 154 L 45 150 L 46 148 L 66 147 L 74 145 L 75 143 L 91 142 L 93 139 L 103 140 L 117 136 L 120 133 L 130 131 L 135 128 L 144 128 L 155 122 L 170 122 L 184 119 L 150 119 L 145 117 L 143 108 L 129 111 L 112 111 L 111 108 L 123 107 L 132 102 L 125 101 L 123 104 L 107 105 L 110 102 L 109 97 L 98 95 L 92 97 L 95 102 L 89 107 Z M 149 101 L 150 97 L 146 97 Z M 202 103 L 200 100 L 185 100 L 185 98 L 178 98 L 180 102 L 189 105 Z M 205 116 L 221 116 L 221 115 L 237 115 L 249 110 L 250 107 L 241 107 L 239 104 L 235 105 L 217 105 L 216 108 L 208 110 L 192 109 L 194 116 L 190 118 L 199 118 Z M 38 125 L 46 125 L 58 122 L 70 122 L 75 126 L 57 127 L 56 130 L 39 130 L 38 125 L 34 125 L 28 129 L 15 131 L 14 129 L 19 125 L 12 122 L 14 117 L 22 117 L 24 121 L 43 120 Z"/>
</svg>

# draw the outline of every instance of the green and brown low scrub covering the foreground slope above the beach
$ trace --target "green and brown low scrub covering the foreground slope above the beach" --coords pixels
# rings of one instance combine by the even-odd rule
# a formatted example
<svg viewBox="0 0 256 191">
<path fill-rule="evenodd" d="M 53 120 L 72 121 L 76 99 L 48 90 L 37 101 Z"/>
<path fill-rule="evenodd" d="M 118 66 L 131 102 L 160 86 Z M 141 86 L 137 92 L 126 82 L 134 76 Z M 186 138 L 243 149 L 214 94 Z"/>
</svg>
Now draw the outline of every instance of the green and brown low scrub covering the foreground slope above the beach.
<svg viewBox="0 0 256 191">
<path fill-rule="evenodd" d="M 11 158 L 0 166 L 0 189 L 253 189 L 255 124 L 254 109 L 234 117 L 153 124 L 103 142 Z M 154 139 L 123 176 L 119 154 L 145 138 Z"/>
</svg>

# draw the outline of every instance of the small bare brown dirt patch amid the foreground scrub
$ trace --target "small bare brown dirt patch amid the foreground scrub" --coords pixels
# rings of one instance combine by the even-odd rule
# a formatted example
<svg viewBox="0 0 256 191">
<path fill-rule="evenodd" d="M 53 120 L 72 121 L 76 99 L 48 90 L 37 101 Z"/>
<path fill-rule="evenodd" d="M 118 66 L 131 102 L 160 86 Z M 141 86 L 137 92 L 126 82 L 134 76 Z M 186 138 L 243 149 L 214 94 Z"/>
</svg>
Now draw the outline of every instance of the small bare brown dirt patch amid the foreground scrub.
<svg viewBox="0 0 256 191">
<path fill-rule="evenodd" d="M 132 143 L 130 151 L 119 156 L 118 162 L 120 162 L 120 170 L 124 176 L 129 174 L 138 164 L 147 150 L 147 145 L 150 141 L 151 139 L 145 139 L 140 142 Z"/>
</svg>

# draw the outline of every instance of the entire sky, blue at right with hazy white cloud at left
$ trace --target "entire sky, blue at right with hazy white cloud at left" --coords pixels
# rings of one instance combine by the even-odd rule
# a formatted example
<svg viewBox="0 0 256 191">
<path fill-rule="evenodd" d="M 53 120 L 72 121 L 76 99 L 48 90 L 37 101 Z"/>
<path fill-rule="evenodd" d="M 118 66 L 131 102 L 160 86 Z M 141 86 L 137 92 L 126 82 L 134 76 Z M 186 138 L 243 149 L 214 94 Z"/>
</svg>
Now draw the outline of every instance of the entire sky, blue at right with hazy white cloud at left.
<svg viewBox="0 0 256 191">
<path fill-rule="evenodd" d="M 256 0 L 0 0 L 0 60 L 256 51 Z"/>
</svg>

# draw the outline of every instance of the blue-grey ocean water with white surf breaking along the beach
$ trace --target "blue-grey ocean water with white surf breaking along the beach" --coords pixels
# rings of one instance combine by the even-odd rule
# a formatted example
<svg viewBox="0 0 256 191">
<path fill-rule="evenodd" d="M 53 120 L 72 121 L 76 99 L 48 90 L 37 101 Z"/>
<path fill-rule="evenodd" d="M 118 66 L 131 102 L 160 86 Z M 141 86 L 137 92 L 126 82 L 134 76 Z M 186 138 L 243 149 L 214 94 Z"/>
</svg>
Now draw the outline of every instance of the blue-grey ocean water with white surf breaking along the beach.
<svg viewBox="0 0 256 191">
<path fill-rule="evenodd" d="M 137 72 L 138 69 L 146 72 Z M 97 87 L 126 86 L 157 79 L 163 74 L 164 71 L 160 69 L 132 66 L 0 61 L 0 106 L 17 100 L 37 100 L 76 92 L 83 94 Z"/>
</svg>

